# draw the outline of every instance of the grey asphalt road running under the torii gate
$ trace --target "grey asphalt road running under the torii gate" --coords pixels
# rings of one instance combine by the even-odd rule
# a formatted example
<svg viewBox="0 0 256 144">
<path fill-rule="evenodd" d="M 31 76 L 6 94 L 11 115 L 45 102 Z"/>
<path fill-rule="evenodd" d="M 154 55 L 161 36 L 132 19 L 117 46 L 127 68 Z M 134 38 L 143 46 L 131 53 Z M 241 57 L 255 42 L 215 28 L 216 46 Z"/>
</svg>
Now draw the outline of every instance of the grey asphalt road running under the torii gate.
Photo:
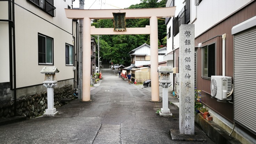
<svg viewBox="0 0 256 144">
<path fill-rule="evenodd" d="M 119 78 L 117 70 L 102 69 L 103 79 L 91 92 L 92 102 L 71 101 L 55 117 L 39 117 L 0 126 L 0 144 L 194 144 L 173 141 L 178 129 L 178 108 L 173 117 L 155 113 L 151 92 Z M 204 134 L 209 144 L 213 142 Z"/>
</svg>

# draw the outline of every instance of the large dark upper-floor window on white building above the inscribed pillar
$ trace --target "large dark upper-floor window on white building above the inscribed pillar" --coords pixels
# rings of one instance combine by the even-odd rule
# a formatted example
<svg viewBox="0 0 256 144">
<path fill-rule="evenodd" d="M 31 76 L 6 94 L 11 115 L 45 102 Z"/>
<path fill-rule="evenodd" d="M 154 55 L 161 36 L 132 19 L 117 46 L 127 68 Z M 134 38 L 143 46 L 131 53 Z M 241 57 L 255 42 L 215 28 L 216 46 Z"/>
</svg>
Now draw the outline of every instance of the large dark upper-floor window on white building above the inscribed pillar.
<svg viewBox="0 0 256 144">
<path fill-rule="evenodd" d="M 190 0 L 186 0 L 185 7 L 182 8 L 177 17 L 173 18 L 173 36 L 179 33 L 181 24 L 190 22 Z"/>
</svg>

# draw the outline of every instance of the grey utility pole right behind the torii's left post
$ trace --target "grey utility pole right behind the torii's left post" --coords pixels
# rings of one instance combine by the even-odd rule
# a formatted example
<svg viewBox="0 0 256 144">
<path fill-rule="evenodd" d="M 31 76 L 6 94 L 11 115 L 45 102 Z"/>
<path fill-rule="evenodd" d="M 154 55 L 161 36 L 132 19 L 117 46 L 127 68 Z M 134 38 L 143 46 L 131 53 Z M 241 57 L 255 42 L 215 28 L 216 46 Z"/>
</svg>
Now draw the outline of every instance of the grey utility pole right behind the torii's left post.
<svg viewBox="0 0 256 144">
<path fill-rule="evenodd" d="M 79 0 L 79 9 L 84 9 L 85 0 Z M 78 50 L 78 94 L 82 99 L 83 93 L 83 19 L 79 19 L 79 50 Z"/>
</svg>

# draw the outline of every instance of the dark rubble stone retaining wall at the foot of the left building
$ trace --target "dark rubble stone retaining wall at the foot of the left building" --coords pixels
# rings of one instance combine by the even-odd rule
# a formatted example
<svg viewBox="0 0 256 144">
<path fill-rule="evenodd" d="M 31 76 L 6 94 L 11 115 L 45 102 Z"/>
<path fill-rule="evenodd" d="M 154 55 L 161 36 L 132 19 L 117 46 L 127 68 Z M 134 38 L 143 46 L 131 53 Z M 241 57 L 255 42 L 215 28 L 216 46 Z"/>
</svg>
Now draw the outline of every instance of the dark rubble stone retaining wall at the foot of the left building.
<svg viewBox="0 0 256 144">
<path fill-rule="evenodd" d="M 75 99 L 72 85 L 54 88 L 54 108 L 59 108 L 63 103 L 61 99 Z M 27 118 L 35 118 L 43 115 L 47 109 L 47 91 L 30 95 L 16 101 L 16 116 L 25 116 Z M 0 105 L 0 119 L 14 116 L 14 101 L 8 101 Z"/>
</svg>

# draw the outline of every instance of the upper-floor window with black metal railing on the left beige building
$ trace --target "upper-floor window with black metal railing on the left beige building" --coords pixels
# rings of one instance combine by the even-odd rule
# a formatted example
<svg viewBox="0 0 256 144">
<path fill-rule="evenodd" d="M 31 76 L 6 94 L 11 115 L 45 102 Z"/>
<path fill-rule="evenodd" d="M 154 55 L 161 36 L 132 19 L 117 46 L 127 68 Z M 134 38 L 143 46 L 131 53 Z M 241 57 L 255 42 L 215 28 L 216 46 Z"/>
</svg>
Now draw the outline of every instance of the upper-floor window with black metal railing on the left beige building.
<svg viewBox="0 0 256 144">
<path fill-rule="evenodd" d="M 47 14 L 55 17 L 54 0 L 27 0 L 45 11 Z"/>
</svg>

